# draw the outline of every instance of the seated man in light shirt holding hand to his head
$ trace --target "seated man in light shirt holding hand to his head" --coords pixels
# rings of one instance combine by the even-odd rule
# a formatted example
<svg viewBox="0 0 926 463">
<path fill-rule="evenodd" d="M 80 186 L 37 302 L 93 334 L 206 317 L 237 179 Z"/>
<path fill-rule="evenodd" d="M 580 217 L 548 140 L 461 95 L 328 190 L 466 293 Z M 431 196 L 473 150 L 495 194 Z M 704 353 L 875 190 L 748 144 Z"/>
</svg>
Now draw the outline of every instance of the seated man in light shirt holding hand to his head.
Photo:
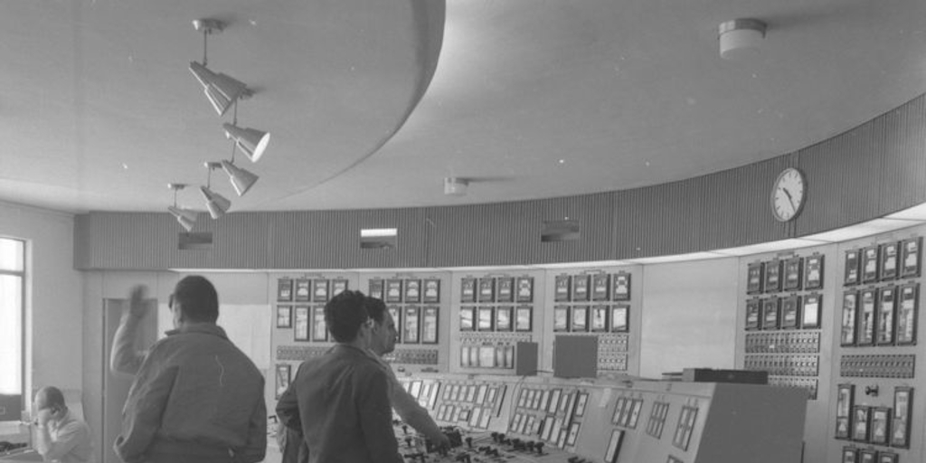
<svg viewBox="0 0 926 463">
<path fill-rule="evenodd" d="M 35 394 L 35 450 L 44 461 L 86 463 L 93 446 L 87 423 L 71 415 L 64 394 L 56 387 L 44 387 Z"/>
</svg>

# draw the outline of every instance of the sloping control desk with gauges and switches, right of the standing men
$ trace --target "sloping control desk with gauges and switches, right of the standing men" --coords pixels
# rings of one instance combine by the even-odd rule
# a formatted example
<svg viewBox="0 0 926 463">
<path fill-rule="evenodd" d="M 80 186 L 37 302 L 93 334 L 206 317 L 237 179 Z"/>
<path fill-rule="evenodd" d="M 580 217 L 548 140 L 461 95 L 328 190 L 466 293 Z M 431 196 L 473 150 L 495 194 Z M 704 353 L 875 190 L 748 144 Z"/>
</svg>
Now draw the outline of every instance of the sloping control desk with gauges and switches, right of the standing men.
<svg viewBox="0 0 926 463">
<path fill-rule="evenodd" d="M 396 425 L 407 462 L 800 461 L 807 392 L 715 382 L 426 374 L 401 378 L 456 443 Z M 769 436 L 774 435 L 774 439 Z"/>
</svg>

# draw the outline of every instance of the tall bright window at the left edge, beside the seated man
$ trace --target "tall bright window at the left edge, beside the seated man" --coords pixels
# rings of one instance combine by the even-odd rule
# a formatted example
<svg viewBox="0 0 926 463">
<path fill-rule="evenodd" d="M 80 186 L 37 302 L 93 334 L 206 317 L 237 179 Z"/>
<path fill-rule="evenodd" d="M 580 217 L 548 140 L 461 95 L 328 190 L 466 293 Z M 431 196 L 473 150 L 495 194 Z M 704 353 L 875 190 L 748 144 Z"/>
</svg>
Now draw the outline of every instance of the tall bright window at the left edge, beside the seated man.
<svg viewBox="0 0 926 463">
<path fill-rule="evenodd" d="M 0 238 L 0 420 L 19 419 L 23 387 L 25 243 Z"/>
</svg>

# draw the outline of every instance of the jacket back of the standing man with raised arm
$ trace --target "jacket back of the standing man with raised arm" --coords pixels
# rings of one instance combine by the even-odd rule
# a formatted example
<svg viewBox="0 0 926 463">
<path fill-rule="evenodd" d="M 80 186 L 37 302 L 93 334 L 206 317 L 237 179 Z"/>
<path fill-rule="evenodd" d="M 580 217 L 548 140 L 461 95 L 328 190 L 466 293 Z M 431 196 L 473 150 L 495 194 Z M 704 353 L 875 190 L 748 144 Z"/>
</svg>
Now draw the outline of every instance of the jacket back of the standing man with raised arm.
<svg viewBox="0 0 926 463">
<path fill-rule="evenodd" d="M 263 393 L 260 371 L 218 326 L 171 332 L 152 347 L 132 384 L 116 450 L 129 462 L 220 460 L 230 451 L 237 461 L 260 461 L 267 444 Z"/>
</svg>

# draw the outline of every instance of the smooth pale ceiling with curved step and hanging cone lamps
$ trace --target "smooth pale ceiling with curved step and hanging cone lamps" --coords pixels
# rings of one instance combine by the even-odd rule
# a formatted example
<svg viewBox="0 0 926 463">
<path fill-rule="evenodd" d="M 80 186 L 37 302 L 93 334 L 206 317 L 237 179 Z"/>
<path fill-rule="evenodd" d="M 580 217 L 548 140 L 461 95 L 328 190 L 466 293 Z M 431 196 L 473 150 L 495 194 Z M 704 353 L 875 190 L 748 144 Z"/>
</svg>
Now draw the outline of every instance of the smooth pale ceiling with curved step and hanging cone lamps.
<svg viewBox="0 0 926 463">
<path fill-rule="evenodd" d="M 724 60 L 720 22 L 769 23 Z M 6 0 L 0 200 L 164 211 L 232 144 L 188 70 L 271 133 L 232 211 L 459 205 L 621 190 L 825 140 L 926 92 L 922 0 Z M 436 63 L 436 70 L 434 65 Z M 432 72 L 433 71 L 433 72 Z M 432 76 L 432 78 L 431 78 Z M 443 194 L 444 177 L 470 179 Z"/>
</svg>

